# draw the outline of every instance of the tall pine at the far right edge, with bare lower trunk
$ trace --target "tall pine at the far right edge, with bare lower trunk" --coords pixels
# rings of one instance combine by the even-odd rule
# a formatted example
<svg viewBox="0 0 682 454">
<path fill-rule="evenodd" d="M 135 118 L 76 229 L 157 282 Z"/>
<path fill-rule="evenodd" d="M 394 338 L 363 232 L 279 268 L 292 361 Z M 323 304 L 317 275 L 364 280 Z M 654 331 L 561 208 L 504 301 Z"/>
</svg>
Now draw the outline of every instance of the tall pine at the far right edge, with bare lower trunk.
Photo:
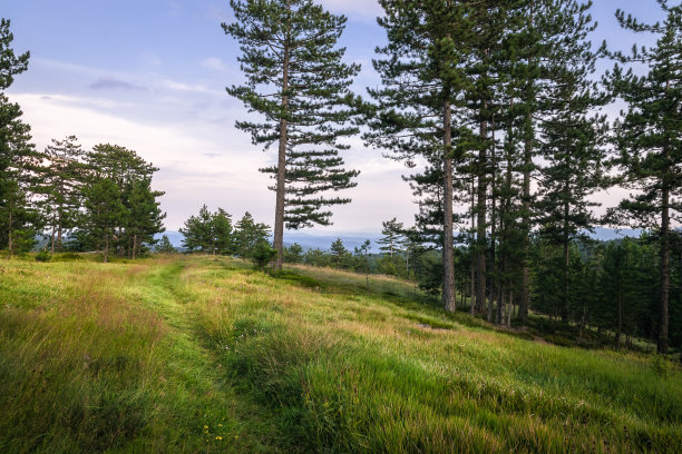
<svg viewBox="0 0 682 454">
<path fill-rule="evenodd" d="M 622 63 L 647 65 L 646 73 L 637 76 L 632 68 L 624 72 L 616 65 L 607 75 L 614 95 L 627 103 L 615 125 L 615 164 L 623 172 L 622 184 L 637 191 L 611 214 L 618 224 L 659 233 L 657 348 L 659 353 L 668 353 L 671 219 L 682 213 L 682 6 L 656 1 L 666 13 L 663 23 L 643 23 L 621 10 L 616 12 L 621 27 L 653 33 L 657 41 L 652 48 L 635 46 L 631 56 L 613 55 Z M 615 216 L 618 213 L 625 216 Z"/>
</svg>

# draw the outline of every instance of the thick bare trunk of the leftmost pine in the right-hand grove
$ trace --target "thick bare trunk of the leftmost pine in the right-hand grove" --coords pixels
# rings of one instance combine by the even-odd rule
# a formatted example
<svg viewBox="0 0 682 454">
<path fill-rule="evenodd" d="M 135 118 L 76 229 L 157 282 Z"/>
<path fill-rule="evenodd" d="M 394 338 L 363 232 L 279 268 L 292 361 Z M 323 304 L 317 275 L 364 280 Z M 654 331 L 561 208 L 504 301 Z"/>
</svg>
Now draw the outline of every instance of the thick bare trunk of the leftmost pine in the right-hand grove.
<svg viewBox="0 0 682 454">
<path fill-rule="evenodd" d="M 442 279 L 442 304 L 448 312 L 457 310 L 457 299 L 455 294 L 455 239 L 452 237 L 452 111 L 450 101 L 447 100 L 444 106 L 445 129 L 444 137 L 444 279 Z"/>
</svg>

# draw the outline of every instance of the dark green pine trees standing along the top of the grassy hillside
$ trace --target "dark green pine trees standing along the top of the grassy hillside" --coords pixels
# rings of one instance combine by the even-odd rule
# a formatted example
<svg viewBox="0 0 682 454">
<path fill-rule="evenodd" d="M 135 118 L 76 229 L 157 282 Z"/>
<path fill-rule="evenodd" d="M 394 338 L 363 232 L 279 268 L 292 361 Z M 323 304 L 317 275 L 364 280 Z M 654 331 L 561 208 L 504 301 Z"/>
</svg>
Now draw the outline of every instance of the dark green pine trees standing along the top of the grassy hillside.
<svg viewBox="0 0 682 454">
<path fill-rule="evenodd" d="M 590 2 L 382 1 L 388 45 L 373 60 L 382 86 L 363 99 L 350 90 L 360 66 L 338 46 L 344 17 L 311 1 L 232 1 L 235 21 L 223 28 L 241 45 L 245 80 L 227 92 L 263 119 L 236 127 L 276 147 L 262 169 L 275 180 L 274 231 L 246 214 L 233 233 L 224 209 L 204 207 L 182 230 L 184 249 L 251 258 L 272 236 L 276 255 L 260 255 L 274 270 L 288 260 L 379 272 L 490 323 L 524 324 L 535 312 L 581 333 L 612 332 L 616 347 L 623 334 L 659 353 L 680 348 L 682 16 L 657 3 L 662 23 L 615 12 L 623 29 L 656 37 L 625 55 L 591 41 Z M 9 27 L 3 19 L 2 89 L 30 57 L 13 52 Z M 597 73 L 604 60 L 612 68 Z M 41 237 L 46 253 L 100 251 L 104 261 L 155 249 L 165 214 L 153 164 L 117 145 L 86 151 L 74 136 L 37 150 L 20 106 L 1 101 L 8 256 Z M 616 118 L 605 114 L 614 102 L 624 106 Z M 418 205 L 413 226 L 384 223 L 371 266 L 369 244 L 284 247 L 285 228 L 330 225 L 329 208 L 351 201 L 337 196 L 357 185 L 341 155 L 351 136 L 411 169 Z M 594 195 L 611 187 L 631 197 L 604 207 Z M 597 226 L 642 234 L 600 244 L 590 239 Z M 174 248 L 166 238 L 159 249 Z"/>
</svg>

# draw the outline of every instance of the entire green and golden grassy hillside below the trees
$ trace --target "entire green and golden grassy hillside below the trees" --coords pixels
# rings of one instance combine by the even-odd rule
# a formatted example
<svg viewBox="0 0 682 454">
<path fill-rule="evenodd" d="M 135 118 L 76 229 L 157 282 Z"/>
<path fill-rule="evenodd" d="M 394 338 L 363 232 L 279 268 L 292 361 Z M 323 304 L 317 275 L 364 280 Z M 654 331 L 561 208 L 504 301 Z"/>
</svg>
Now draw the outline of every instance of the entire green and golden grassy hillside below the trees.
<svg viewBox="0 0 682 454">
<path fill-rule="evenodd" d="M 669 363 L 363 284 L 212 257 L 3 260 L 0 452 L 682 452 Z"/>
</svg>

